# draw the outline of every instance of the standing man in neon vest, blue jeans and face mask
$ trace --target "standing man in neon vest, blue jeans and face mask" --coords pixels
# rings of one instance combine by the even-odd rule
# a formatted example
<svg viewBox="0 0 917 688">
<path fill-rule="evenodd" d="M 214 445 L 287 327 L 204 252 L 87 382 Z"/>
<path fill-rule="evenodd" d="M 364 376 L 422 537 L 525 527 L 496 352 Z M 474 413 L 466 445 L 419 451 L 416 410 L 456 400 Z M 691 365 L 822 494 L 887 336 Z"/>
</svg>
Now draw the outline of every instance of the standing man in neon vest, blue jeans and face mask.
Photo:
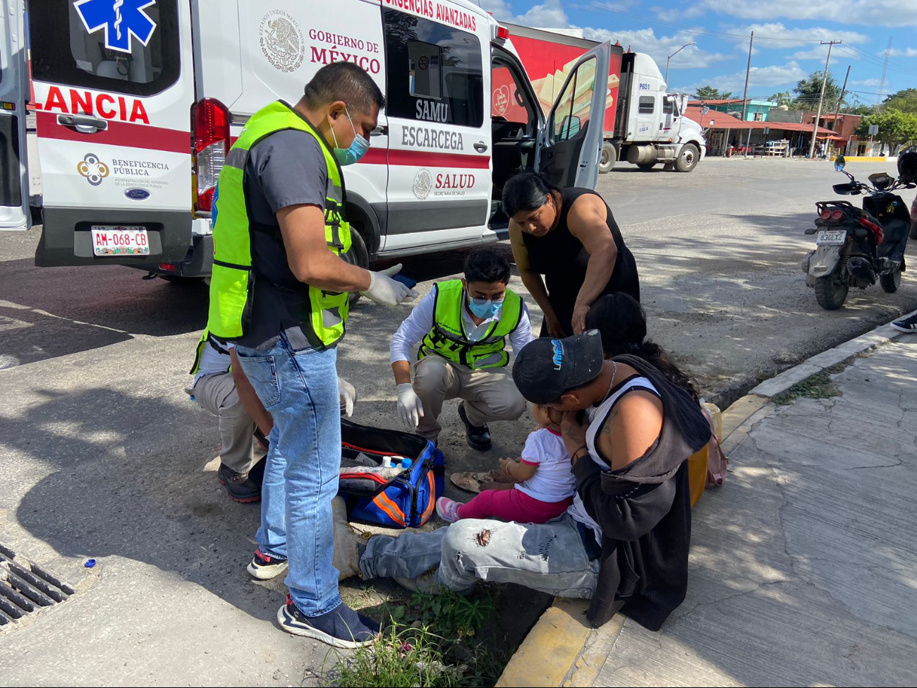
<svg viewBox="0 0 917 688">
<path fill-rule="evenodd" d="M 271 103 L 249 119 L 226 155 L 215 199 L 207 327 L 235 342 L 274 422 L 248 570 L 264 580 L 289 567 L 281 627 L 339 648 L 373 642 L 379 626 L 341 601 L 332 563 L 341 459 L 336 346 L 348 292 L 385 305 L 416 295 L 341 257 L 351 246 L 341 165 L 369 149 L 383 104 L 356 64 L 326 65 L 296 105 Z"/>
</svg>

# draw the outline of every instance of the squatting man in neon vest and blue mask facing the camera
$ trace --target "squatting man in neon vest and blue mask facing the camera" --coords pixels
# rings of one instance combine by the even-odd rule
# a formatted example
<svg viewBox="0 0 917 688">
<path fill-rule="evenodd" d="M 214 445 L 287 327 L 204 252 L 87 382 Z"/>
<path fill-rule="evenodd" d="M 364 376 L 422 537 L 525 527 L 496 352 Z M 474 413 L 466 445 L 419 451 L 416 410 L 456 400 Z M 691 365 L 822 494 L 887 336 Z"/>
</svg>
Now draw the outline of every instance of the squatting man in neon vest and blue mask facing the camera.
<svg viewBox="0 0 917 688">
<path fill-rule="evenodd" d="M 436 441 L 446 399 L 462 399 L 458 416 L 472 449 L 491 447 L 490 420 L 515 420 L 525 399 L 506 372 L 509 354 L 535 336 L 528 309 L 507 288 L 510 265 L 493 247 L 473 250 L 465 277 L 436 283 L 392 337 L 392 372 L 398 385 L 398 412 L 410 429 Z M 414 383 L 411 350 L 420 342 Z"/>
</svg>

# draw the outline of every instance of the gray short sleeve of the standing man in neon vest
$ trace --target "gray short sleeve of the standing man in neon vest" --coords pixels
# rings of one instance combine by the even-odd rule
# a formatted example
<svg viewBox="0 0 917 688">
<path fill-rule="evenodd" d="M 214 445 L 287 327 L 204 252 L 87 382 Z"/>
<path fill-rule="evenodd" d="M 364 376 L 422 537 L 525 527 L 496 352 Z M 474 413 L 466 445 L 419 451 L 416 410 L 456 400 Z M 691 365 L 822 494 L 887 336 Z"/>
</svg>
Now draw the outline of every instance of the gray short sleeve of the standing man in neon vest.
<svg viewBox="0 0 917 688">
<path fill-rule="evenodd" d="M 325 155 L 312 134 L 295 129 L 271 134 L 251 150 L 249 165 L 271 212 L 325 205 Z"/>
</svg>

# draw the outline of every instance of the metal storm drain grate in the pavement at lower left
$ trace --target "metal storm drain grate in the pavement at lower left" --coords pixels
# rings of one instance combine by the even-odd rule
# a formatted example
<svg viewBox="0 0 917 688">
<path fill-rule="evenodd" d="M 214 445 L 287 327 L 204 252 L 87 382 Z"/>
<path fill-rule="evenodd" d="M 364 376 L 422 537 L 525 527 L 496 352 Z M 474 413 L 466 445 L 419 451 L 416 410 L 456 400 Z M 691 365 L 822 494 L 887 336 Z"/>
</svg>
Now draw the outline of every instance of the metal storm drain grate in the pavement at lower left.
<svg viewBox="0 0 917 688">
<path fill-rule="evenodd" d="M 0 627 L 65 602 L 76 591 L 0 543 Z"/>
</svg>

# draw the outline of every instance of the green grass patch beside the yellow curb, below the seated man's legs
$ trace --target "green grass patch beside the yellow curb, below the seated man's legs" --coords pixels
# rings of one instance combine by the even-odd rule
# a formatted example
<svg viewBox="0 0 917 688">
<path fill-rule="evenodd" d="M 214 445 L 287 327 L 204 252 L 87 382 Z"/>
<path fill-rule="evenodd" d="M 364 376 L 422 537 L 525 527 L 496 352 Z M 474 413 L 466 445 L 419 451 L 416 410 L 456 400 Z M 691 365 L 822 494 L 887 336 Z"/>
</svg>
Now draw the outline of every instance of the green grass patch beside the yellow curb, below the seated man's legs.
<svg viewBox="0 0 917 688">
<path fill-rule="evenodd" d="M 370 648 L 336 653 L 326 682 L 341 688 L 492 686 L 509 658 L 478 633 L 495 609 L 487 590 L 469 597 L 414 593 L 403 604 L 364 609 L 387 627 L 382 638 Z"/>
</svg>

